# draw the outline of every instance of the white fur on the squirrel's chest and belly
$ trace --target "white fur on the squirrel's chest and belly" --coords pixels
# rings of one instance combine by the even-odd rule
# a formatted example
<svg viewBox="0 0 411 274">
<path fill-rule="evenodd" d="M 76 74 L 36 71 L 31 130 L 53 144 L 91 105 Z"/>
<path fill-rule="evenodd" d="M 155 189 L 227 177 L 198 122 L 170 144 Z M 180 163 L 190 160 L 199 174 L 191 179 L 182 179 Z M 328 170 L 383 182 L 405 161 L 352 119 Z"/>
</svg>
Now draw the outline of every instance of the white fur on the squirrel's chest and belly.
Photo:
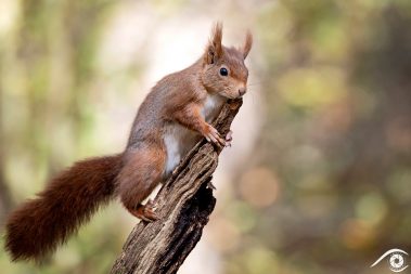
<svg viewBox="0 0 411 274">
<path fill-rule="evenodd" d="M 224 99 L 220 95 L 208 95 L 201 112 L 207 122 L 210 122 L 220 109 Z M 198 142 L 200 134 L 178 123 L 170 125 L 164 135 L 167 160 L 165 177 L 179 165 L 182 157 Z"/>
</svg>

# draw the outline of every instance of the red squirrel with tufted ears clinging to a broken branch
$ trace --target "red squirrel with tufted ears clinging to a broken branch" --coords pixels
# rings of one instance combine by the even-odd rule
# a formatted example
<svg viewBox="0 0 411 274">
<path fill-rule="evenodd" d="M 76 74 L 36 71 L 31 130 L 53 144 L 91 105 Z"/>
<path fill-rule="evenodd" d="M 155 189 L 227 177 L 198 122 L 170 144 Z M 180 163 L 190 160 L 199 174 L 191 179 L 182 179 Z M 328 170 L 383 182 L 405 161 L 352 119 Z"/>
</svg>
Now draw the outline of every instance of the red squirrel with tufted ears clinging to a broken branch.
<svg viewBox="0 0 411 274">
<path fill-rule="evenodd" d="M 253 37 L 247 31 L 240 48 L 227 48 L 221 39 L 222 25 L 216 23 L 203 56 L 155 84 L 140 105 L 121 154 L 76 162 L 11 213 L 5 249 L 13 260 L 41 260 L 114 196 L 134 217 L 157 220 L 153 204 L 141 203 L 196 142 L 205 138 L 230 144 L 231 136 L 224 140 L 209 122 L 228 99 L 246 92 L 244 60 Z"/>
</svg>

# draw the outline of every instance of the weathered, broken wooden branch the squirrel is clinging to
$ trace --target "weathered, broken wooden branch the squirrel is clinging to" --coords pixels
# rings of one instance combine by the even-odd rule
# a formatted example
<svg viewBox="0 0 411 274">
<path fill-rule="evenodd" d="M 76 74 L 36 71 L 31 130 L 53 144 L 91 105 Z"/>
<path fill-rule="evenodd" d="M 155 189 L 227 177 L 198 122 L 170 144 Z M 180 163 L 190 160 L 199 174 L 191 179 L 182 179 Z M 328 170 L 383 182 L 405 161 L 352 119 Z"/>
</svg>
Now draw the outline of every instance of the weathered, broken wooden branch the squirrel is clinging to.
<svg viewBox="0 0 411 274">
<path fill-rule="evenodd" d="M 242 103 L 241 99 L 229 101 L 213 122 L 222 136 L 229 132 Z M 221 149 L 202 140 L 184 157 L 154 200 L 160 219 L 134 226 L 112 274 L 178 271 L 200 240 L 216 205 L 209 186 Z"/>
</svg>

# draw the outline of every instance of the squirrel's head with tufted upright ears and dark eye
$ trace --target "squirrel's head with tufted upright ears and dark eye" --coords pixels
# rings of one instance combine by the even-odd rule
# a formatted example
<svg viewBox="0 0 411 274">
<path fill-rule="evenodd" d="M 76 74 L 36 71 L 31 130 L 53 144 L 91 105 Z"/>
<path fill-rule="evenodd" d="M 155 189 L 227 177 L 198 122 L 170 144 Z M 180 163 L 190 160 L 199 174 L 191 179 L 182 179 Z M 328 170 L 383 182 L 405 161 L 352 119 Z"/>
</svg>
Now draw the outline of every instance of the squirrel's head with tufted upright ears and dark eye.
<svg viewBox="0 0 411 274">
<path fill-rule="evenodd" d="M 221 40 L 222 24 L 218 22 L 203 56 L 203 84 L 208 92 L 229 99 L 241 97 L 247 91 L 248 69 L 244 60 L 252 49 L 253 36 L 247 31 L 240 48 L 227 48 Z"/>
</svg>

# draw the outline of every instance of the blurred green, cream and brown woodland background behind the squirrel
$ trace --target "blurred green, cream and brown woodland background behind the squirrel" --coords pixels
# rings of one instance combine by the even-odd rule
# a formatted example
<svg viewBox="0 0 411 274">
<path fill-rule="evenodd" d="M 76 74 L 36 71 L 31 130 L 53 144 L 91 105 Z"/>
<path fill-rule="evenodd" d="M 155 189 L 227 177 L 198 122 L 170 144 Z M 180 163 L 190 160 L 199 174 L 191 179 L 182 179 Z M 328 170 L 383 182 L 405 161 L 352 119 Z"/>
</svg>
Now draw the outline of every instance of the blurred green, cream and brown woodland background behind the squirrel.
<svg viewBox="0 0 411 274">
<path fill-rule="evenodd" d="M 216 210 L 179 273 L 390 273 L 369 266 L 411 252 L 411 1 L 1 0 L 0 11 L 0 223 L 74 161 L 121 151 L 150 87 L 200 57 L 221 19 L 224 44 L 254 34 L 248 93 Z M 44 265 L 1 249 L 0 270 L 107 273 L 136 222 L 112 203 Z"/>
</svg>

